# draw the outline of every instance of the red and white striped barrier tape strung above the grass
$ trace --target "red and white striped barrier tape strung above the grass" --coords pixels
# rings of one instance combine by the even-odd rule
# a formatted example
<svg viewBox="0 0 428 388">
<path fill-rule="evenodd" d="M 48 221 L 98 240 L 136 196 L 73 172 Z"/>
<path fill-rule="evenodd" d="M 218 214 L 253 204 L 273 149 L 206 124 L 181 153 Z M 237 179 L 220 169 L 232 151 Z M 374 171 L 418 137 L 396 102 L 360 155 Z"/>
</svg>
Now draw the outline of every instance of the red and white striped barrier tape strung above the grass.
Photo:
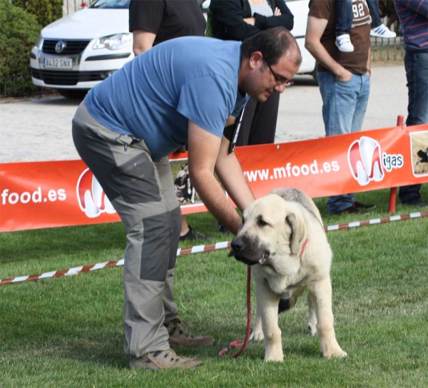
<svg viewBox="0 0 428 388">
<path fill-rule="evenodd" d="M 392 217 L 374 218 L 372 220 L 356 221 L 354 223 L 330 225 L 330 226 L 326 226 L 325 230 L 327 232 L 331 232 L 332 230 L 358 228 L 360 226 L 376 225 L 379 223 L 391 223 L 393 221 L 409 220 L 410 218 L 422 218 L 427 216 L 428 216 L 428 212 L 392 215 Z M 220 250 L 228 247 L 230 247 L 230 241 L 216 242 L 215 244 L 209 244 L 209 245 L 195 245 L 194 247 L 178 248 L 177 256 L 190 255 L 190 254 L 199 253 L 199 252 L 208 252 L 210 250 Z M 121 265 L 123 265 L 123 263 L 124 263 L 124 259 L 121 259 L 121 260 L 110 261 L 110 262 L 98 262 L 98 264 L 84 265 L 83 267 L 74 267 L 68 270 L 45 272 L 45 273 L 42 273 L 41 275 L 11 277 L 10 279 L 0 279 L 0 285 L 17 283 L 17 282 L 28 282 L 29 280 L 46 279 L 47 277 L 62 277 L 62 276 L 78 275 L 79 273 L 82 273 L 82 272 L 101 270 L 102 268 L 120 267 Z"/>
</svg>

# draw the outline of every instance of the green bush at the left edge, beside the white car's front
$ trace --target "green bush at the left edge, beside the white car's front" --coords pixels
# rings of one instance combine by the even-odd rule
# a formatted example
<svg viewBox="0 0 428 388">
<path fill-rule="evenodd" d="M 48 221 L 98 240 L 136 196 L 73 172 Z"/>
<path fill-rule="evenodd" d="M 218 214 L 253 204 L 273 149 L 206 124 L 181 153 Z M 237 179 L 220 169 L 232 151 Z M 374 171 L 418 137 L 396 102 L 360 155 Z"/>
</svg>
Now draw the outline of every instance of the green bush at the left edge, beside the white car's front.
<svg viewBox="0 0 428 388">
<path fill-rule="evenodd" d="M 10 0 L 0 0 L 0 95 L 23 96 L 36 90 L 29 61 L 40 31 L 34 16 Z"/>
</svg>

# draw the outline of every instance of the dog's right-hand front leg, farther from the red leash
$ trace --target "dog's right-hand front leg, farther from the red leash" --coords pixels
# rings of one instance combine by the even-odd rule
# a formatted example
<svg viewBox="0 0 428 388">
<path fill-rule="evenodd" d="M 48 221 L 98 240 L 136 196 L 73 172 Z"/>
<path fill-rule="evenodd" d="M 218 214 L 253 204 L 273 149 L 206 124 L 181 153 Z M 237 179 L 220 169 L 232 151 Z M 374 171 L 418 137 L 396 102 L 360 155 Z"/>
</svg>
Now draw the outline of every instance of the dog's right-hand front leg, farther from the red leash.
<svg viewBox="0 0 428 388">
<path fill-rule="evenodd" d="M 335 336 L 335 328 L 333 327 L 333 312 L 332 312 L 332 285 L 330 277 L 316 282 L 310 287 L 308 292 L 312 292 L 313 301 L 315 302 L 315 314 L 317 315 L 317 335 L 320 341 L 322 355 L 326 358 L 332 357 L 347 357 Z"/>
</svg>

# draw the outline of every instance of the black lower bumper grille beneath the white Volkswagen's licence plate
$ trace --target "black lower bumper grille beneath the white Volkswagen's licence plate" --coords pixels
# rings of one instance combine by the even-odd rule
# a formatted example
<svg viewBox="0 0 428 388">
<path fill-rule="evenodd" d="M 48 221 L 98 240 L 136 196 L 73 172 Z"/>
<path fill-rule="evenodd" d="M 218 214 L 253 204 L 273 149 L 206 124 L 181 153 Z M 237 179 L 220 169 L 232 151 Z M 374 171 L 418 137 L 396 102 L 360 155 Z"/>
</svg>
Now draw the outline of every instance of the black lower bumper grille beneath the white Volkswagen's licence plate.
<svg viewBox="0 0 428 388">
<path fill-rule="evenodd" d="M 31 75 L 46 85 L 72 86 L 78 82 L 102 81 L 106 71 L 55 71 L 31 68 Z"/>
</svg>

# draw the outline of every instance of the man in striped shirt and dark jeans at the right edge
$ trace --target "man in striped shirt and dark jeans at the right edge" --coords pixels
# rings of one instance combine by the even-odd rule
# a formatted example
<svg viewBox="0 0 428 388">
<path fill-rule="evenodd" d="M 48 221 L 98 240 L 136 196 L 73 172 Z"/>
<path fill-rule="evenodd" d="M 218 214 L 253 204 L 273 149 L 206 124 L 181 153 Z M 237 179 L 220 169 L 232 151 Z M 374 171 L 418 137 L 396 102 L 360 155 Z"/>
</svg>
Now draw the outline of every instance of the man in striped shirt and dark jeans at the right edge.
<svg viewBox="0 0 428 388">
<path fill-rule="evenodd" d="M 402 25 L 406 47 L 406 68 L 409 105 L 407 126 L 428 123 L 428 1 L 394 0 L 399 22 Z M 427 206 L 421 198 L 421 185 L 399 188 L 399 199 L 404 205 Z"/>
</svg>

